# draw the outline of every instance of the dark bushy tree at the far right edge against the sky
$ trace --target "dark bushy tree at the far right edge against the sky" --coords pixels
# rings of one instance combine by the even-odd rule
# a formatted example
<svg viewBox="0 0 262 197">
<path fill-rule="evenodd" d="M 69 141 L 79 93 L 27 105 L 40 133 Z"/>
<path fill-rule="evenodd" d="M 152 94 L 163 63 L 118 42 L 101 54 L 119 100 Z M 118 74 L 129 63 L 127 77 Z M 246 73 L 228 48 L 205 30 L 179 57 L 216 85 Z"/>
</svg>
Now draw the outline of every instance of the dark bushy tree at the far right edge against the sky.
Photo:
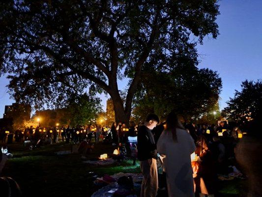
<svg viewBox="0 0 262 197">
<path fill-rule="evenodd" d="M 223 116 L 242 125 L 258 124 L 262 114 L 262 81 L 245 80 L 241 88 L 240 92 L 235 90 L 234 98 L 227 102 Z"/>
</svg>

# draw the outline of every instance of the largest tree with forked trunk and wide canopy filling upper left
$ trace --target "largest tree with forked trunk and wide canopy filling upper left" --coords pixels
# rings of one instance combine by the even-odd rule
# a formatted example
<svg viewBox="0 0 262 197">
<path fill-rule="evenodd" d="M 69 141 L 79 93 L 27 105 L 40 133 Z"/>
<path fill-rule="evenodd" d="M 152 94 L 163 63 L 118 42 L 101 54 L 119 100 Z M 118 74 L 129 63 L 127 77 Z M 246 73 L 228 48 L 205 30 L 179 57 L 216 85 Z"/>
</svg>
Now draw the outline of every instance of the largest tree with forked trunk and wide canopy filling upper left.
<svg viewBox="0 0 262 197">
<path fill-rule="evenodd" d="M 196 60 L 218 35 L 217 0 L 10 0 L 0 2 L 1 73 L 16 100 L 41 104 L 71 92 L 108 93 L 128 122 L 143 67 Z M 117 79 L 130 79 L 125 103 Z"/>
</svg>

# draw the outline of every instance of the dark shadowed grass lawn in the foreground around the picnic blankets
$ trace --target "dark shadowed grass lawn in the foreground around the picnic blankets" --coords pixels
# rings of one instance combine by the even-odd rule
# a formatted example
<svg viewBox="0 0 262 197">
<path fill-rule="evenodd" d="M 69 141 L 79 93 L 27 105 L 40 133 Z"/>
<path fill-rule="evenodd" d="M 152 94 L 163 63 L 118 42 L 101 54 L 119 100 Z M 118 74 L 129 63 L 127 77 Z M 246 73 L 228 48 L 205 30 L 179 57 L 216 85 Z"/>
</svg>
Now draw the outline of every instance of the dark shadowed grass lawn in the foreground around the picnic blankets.
<svg viewBox="0 0 262 197">
<path fill-rule="evenodd" d="M 71 144 L 58 143 L 29 150 L 22 144 L 8 145 L 14 158 L 7 161 L 1 176 L 12 177 L 20 185 L 24 197 L 89 197 L 99 189 L 93 175 L 112 175 L 118 172 L 140 172 L 139 163 L 95 166 L 83 163 L 79 154 L 57 155 L 57 151 L 71 150 Z M 112 154 L 114 147 L 95 146 L 87 159 L 103 153 Z M 90 173 L 93 172 L 93 173 Z M 220 197 L 245 197 L 246 180 L 220 182 Z"/>
</svg>

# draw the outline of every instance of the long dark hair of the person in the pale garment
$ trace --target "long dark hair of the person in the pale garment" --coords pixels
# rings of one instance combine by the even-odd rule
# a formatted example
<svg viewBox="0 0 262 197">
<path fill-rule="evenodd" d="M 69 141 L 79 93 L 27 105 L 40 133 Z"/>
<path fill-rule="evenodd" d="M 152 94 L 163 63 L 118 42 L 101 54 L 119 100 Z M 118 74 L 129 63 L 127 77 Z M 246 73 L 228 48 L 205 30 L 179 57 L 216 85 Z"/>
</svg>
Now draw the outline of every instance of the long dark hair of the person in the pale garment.
<svg viewBox="0 0 262 197">
<path fill-rule="evenodd" d="M 176 129 L 184 129 L 178 122 L 177 114 L 173 110 L 168 114 L 166 121 L 166 130 L 172 132 L 172 138 L 174 142 L 177 142 Z"/>
</svg>

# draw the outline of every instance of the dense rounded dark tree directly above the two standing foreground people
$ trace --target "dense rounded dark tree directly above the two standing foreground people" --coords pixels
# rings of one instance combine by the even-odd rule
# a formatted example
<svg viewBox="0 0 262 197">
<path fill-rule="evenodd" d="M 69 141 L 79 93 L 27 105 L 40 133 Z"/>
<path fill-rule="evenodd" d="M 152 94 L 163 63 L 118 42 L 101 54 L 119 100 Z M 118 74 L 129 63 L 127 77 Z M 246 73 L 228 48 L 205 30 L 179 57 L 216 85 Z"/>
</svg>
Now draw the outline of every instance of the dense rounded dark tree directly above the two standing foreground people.
<svg viewBox="0 0 262 197">
<path fill-rule="evenodd" d="M 148 70 L 146 73 L 135 98 L 135 119 L 145 119 L 148 113 L 165 119 L 175 109 L 186 122 L 204 116 L 210 116 L 210 122 L 214 122 L 213 111 L 219 110 L 222 88 L 221 78 L 215 71 L 181 62 L 170 72 Z"/>
</svg>

